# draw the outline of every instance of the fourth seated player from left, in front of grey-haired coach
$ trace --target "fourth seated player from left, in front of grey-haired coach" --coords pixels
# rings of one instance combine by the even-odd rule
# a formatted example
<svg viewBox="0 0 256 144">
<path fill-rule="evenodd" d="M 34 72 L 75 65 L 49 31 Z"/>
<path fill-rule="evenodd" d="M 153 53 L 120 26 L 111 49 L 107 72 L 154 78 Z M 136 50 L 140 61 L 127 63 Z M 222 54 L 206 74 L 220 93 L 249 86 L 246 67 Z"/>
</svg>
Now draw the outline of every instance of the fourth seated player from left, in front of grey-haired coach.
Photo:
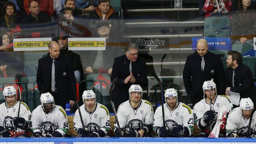
<svg viewBox="0 0 256 144">
<path fill-rule="evenodd" d="M 117 117 L 121 131 L 115 123 L 116 137 L 152 137 L 154 111 L 152 105 L 142 99 L 143 92 L 139 85 L 129 88 L 130 100 L 119 105 Z"/>
</svg>

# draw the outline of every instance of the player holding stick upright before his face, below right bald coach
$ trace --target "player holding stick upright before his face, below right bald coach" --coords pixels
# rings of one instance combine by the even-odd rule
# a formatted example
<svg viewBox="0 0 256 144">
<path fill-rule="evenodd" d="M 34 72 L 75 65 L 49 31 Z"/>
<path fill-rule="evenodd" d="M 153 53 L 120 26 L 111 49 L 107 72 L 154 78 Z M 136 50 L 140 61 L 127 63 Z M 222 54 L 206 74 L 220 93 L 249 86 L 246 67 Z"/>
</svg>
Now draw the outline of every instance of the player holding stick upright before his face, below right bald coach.
<svg viewBox="0 0 256 144">
<path fill-rule="evenodd" d="M 211 86 L 213 87 L 212 100 Z M 204 99 L 195 104 L 193 111 L 195 123 L 197 124 L 197 127 L 202 130 L 196 137 L 208 137 L 210 135 L 211 130 L 217 121 L 217 113 L 222 106 L 226 106 L 227 112 L 230 112 L 233 109 L 233 104 L 226 95 L 217 95 L 216 84 L 213 81 L 204 81 L 202 87 Z M 210 101 L 212 102 L 211 110 Z M 226 137 L 225 130 L 221 129 L 219 137 Z"/>
</svg>

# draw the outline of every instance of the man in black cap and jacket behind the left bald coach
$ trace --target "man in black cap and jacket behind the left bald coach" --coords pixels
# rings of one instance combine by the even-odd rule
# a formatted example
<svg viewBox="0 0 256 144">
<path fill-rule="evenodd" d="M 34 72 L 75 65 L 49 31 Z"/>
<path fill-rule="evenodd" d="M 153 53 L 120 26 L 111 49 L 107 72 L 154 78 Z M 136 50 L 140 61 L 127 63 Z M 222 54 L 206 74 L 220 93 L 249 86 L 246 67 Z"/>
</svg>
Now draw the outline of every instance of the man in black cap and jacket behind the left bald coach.
<svg viewBox="0 0 256 144">
<path fill-rule="evenodd" d="M 72 68 L 74 70 L 74 75 L 76 78 L 76 83 L 80 83 L 80 81 L 82 80 L 81 75 L 83 75 L 83 67 L 82 67 L 81 59 L 80 59 L 79 54 L 76 54 L 76 53 L 72 52 L 71 50 L 69 50 L 68 38 L 70 38 L 70 37 L 63 36 L 63 37 L 57 37 L 55 39 L 59 43 L 60 55 L 71 59 Z"/>
</svg>

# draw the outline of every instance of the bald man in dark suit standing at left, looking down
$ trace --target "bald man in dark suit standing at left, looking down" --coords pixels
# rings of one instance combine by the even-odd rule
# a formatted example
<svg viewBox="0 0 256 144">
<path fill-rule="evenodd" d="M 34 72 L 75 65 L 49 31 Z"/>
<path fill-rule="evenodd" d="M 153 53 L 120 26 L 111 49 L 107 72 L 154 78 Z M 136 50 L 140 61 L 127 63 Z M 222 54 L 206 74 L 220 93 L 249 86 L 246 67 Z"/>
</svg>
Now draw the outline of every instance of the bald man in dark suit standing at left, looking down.
<svg viewBox="0 0 256 144">
<path fill-rule="evenodd" d="M 72 107 L 75 104 L 72 84 L 75 86 L 76 81 L 71 60 L 59 55 L 60 47 L 56 41 L 51 41 L 48 47 L 48 55 L 38 60 L 38 90 L 40 94 L 50 92 L 57 105 L 65 108 L 69 102 Z"/>
</svg>

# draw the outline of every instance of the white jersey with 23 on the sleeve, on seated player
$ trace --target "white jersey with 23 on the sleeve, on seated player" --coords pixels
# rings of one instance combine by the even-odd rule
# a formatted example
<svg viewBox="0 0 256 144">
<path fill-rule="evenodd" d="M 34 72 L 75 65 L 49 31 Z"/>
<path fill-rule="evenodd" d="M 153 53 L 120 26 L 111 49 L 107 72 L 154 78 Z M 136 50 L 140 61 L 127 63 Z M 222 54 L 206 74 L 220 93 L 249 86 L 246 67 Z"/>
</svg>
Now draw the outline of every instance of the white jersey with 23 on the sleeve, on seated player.
<svg viewBox="0 0 256 144">
<path fill-rule="evenodd" d="M 165 126 L 171 130 L 173 125 L 180 124 L 186 126 L 189 130 L 189 136 L 192 135 L 194 130 L 193 112 L 189 106 L 184 103 L 178 102 L 176 109 L 171 111 L 167 104 L 163 104 L 165 112 Z M 163 113 L 162 106 L 158 106 L 154 115 L 153 129 L 156 127 L 163 127 Z"/>
</svg>

